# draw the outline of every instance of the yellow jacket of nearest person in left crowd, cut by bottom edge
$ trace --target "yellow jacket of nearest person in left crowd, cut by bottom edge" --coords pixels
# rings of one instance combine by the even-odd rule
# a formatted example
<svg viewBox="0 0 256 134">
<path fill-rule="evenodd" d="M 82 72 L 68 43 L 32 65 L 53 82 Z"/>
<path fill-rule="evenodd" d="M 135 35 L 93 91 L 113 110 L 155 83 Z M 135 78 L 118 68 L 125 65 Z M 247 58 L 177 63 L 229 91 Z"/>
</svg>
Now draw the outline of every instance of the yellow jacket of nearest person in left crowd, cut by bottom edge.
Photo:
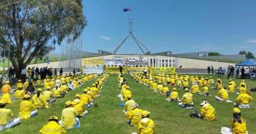
<svg viewBox="0 0 256 134">
<path fill-rule="evenodd" d="M 64 134 L 66 131 L 57 122 L 51 121 L 39 130 L 40 134 Z"/>
</svg>

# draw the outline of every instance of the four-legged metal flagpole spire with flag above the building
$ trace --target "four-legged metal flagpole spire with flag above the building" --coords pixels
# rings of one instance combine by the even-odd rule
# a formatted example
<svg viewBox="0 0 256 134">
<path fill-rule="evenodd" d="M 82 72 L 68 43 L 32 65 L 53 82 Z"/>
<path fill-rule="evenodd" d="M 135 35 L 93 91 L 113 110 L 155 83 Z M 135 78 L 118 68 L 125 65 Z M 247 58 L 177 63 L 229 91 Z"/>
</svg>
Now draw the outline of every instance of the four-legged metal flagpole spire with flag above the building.
<svg viewBox="0 0 256 134">
<path fill-rule="evenodd" d="M 123 9 L 123 11 L 124 12 L 131 11 L 131 7 L 125 8 L 125 9 Z M 116 54 L 117 50 L 119 50 L 119 48 L 128 39 L 128 37 L 131 37 L 132 39 L 134 39 L 134 41 L 137 43 L 137 45 L 139 46 L 139 48 L 143 54 L 150 54 L 151 50 L 149 48 L 147 48 L 141 41 L 139 41 L 139 39 L 137 39 L 135 37 L 135 35 L 133 35 L 133 18 L 131 18 L 131 12 L 130 12 L 130 18 L 129 18 L 129 34 L 127 35 L 127 37 L 125 37 L 125 39 L 123 39 L 123 41 L 121 41 L 116 46 L 116 48 L 114 48 L 114 50 L 113 50 L 114 54 Z M 143 48 L 146 49 L 148 52 L 144 52 Z"/>
</svg>

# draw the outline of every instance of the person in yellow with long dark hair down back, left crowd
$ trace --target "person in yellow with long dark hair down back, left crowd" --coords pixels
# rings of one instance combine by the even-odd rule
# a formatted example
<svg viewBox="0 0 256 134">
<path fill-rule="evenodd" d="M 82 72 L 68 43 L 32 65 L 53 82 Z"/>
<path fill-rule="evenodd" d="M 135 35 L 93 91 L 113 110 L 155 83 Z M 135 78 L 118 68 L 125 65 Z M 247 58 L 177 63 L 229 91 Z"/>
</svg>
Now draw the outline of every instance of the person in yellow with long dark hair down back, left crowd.
<svg viewBox="0 0 256 134">
<path fill-rule="evenodd" d="M 32 103 L 37 109 L 49 109 L 45 97 L 41 94 L 42 89 L 38 88 L 37 93 L 32 97 Z"/>
</svg>

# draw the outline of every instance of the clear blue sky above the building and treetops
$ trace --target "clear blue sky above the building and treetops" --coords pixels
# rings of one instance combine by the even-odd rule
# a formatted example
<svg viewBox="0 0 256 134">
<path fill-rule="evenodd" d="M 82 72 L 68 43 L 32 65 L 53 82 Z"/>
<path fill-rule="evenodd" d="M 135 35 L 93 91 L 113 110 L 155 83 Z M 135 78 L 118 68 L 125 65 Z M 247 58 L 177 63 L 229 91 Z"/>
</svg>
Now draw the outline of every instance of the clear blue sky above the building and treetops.
<svg viewBox="0 0 256 134">
<path fill-rule="evenodd" d="M 131 12 L 123 8 L 132 7 Z M 81 39 L 83 51 L 114 48 L 128 35 L 128 19 L 133 33 L 152 53 L 173 51 L 256 55 L 255 0 L 84 0 L 88 20 Z M 131 38 L 117 54 L 142 54 Z"/>
</svg>

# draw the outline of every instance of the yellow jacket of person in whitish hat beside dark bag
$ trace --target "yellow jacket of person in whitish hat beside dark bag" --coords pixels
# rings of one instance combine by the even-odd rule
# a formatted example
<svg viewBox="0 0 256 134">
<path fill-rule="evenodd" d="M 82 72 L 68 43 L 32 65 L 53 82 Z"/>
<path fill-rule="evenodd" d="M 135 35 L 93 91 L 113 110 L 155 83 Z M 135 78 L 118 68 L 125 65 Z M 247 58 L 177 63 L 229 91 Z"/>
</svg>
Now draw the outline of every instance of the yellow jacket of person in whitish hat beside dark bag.
<svg viewBox="0 0 256 134">
<path fill-rule="evenodd" d="M 204 120 L 216 120 L 215 109 L 209 104 L 203 105 L 200 114 L 203 116 Z"/>
</svg>

